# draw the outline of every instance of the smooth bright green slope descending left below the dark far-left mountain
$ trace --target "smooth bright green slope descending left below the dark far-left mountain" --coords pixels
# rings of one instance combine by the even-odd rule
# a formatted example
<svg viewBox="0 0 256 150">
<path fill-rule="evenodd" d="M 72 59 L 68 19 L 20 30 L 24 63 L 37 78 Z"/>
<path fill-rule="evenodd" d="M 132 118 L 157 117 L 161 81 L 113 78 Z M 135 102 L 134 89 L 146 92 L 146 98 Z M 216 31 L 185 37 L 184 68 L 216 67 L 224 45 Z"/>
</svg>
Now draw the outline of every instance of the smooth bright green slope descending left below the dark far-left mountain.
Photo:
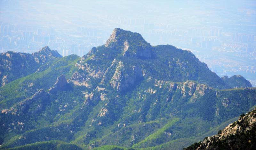
<svg viewBox="0 0 256 150">
<path fill-rule="evenodd" d="M 35 72 L 1 87 L 0 108 L 8 109 L 21 99 L 33 95 L 38 89 L 49 89 L 61 74 L 70 78 L 76 71 L 75 64 L 78 60 L 79 57 L 76 55 L 56 58 L 46 64 L 47 69 L 44 71 Z"/>
</svg>

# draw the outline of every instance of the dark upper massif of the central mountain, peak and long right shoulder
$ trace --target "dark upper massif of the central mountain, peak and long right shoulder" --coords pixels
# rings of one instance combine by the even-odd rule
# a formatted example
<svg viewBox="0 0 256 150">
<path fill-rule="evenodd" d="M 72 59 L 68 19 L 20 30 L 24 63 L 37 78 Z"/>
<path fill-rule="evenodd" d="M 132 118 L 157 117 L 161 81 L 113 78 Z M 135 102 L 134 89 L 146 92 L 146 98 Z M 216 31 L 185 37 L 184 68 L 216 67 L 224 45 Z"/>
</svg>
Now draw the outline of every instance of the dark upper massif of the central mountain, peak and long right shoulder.
<svg viewBox="0 0 256 150">
<path fill-rule="evenodd" d="M 96 62 L 103 60 L 105 66 L 98 66 Z M 92 68 L 91 72 L 95 71 L 99 78 L 103 76 L 101 84 L 114 77 L 111 86 L 118 90 L 132 86 L 137 78 L 145 76 L 173 82 L 194 80 L 218 89 L 230 88 L 190 51 L 170 45 L 150 46 L 139 33 L 119 28 L 113 30 L 105 46 L 92 49 L 83 56 L 77 66 L 88 74 Z M 122 72 L 119 71 L 122 74 L 116 72 L 117 68 L 123 69 Z M 128 77 L 127 74 L 131 72 Z M 124 84 L 120 84 L 121 82 Z M 120 87 L 117 87 L 118 83 Z"/>
</svg>

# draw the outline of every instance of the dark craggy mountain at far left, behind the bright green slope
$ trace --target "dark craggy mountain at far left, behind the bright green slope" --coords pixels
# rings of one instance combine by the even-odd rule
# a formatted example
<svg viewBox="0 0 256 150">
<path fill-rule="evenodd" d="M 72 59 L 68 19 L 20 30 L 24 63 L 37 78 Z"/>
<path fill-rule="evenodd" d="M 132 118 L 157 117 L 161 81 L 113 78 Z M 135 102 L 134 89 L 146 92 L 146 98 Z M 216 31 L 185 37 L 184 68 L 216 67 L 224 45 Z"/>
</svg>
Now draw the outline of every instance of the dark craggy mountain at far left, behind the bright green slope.
<svg viewBox="0 0 256 150">
<path fill-rule="evenodd" d="M 34 73 L 41 65 L 58 57 L 62 56 L 57 51 L 52 51 L 48 46 L 33 54 L 15 52 L 0 54 L 1 86 Z"/>
</svg>

